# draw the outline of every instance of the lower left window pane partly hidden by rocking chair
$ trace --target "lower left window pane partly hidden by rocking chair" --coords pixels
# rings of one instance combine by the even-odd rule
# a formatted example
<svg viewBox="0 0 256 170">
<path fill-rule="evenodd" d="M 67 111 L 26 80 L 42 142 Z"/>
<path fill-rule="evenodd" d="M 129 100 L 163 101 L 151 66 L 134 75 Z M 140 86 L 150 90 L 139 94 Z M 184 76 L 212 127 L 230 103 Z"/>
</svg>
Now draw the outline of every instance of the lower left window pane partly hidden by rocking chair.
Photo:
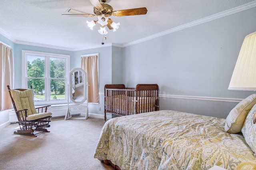
<svg viewBox="0 0 256 170">
<path fill-rule="evenodd" d="M 28 79 L 28 88 L 32 85 L 34 89 L 34 100 L 45 100 L 44 79 Z"/>
</svg>

